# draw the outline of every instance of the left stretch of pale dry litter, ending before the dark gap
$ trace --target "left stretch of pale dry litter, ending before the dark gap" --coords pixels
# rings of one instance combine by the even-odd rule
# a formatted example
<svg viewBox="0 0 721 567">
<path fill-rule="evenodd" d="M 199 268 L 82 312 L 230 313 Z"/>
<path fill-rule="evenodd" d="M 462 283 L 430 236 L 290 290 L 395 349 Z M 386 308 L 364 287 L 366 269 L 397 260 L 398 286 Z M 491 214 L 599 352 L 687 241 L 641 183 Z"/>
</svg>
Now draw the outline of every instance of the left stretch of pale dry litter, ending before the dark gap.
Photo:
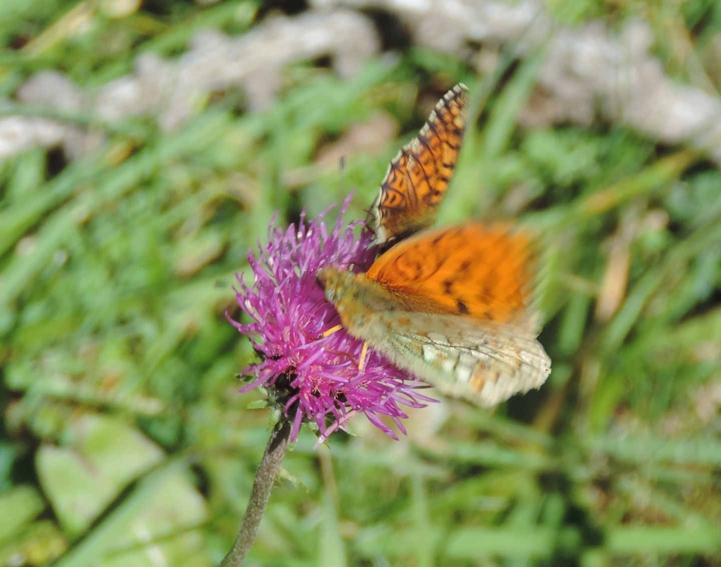
<svg viewBox="0 0 721 567">
<path fill-rule="evenodd" d="M 198 99 L 212 91 L 239 86 L 253 110 L 272 104 L 283 66 L 330 55 L 339 76 L 357 73 L 379 50 L 372 22 L 357 12 L 307 12 L 276 16 L 239 37 L 215 30 L 195 36 L 175 59 L 144 53 L 135 71 L 97 90 L 85 89 L 56 71 L 37 73 L 17 91 L 17 100 L 62 112 L 91 112 L 108 122 L 150 115 L 172 130 L 197 110 Z M 0 119 L 0 159 L 34 146 L 62 146 L 79 156 L 97 146 L 74 126 L 40 117 Z"/>
</svg>

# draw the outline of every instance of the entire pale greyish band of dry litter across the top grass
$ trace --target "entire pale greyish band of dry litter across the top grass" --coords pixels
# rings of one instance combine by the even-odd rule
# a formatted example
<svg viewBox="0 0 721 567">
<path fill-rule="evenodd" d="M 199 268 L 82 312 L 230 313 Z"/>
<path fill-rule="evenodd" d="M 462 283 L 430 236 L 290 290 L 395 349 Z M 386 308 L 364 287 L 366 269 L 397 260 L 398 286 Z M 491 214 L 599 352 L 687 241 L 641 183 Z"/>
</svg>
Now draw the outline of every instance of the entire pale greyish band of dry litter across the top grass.
<svg viewBox="0 0 721 567">
<path fill-rule="evenodd" d="M 644 22 L 611 32 L 603 23 L 561 27 L 539 0 L 313 0 L 297 17 L 273 17 L 239 37 L 201 32 L 175 59 L 146 53 L 128 76 L 91 91 L 61 74 L 38 73 L 17 100 L 66 111 L 92 109 L 101 120 L 156 116 L 162 128 L 182 124 L 211 91 L 237 85 L 249 107 L 272 104 L 283 66 L 330 55 L 335 71 L 350 76 L 379 52 L 370 19 L 358 9 L 382 10 L 409 30 L 412 43 L 461 56 L 479 73 L 489 70 L 498 48 L 519 57 L 543 54 L 539 89 L 521 115 L 523 125 L 588 124 L 600 111 L 665 143 L 686 142 L 721 162 L 721 99 L 665 76 L 650 55 L 653 36 Z M 472 45 L 480 45 L 480 49 Z M 92 148 L 73 126 L 33 117 L 0 120 L 0 158 L 32 146 L 61 144 L 68 155 Z"/>
</svg>

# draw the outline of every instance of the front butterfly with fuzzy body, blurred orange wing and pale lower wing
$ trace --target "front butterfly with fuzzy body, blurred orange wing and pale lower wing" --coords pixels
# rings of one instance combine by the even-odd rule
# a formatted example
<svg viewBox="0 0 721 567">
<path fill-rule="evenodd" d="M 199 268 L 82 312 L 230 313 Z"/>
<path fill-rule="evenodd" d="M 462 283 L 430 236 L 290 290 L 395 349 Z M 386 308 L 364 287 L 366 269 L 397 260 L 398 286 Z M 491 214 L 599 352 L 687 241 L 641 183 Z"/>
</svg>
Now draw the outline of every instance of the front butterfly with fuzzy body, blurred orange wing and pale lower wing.
<svg viewBox="0 0 721 567">
<path fill-rule="evenodd" d="M 392 246 L 364 274 L 318 273 L 342 326 L 448 396 L 491 407 L 539 388 L 551 360 L 536 336 L 531 241 L 469 223 Z"/>
</svg>

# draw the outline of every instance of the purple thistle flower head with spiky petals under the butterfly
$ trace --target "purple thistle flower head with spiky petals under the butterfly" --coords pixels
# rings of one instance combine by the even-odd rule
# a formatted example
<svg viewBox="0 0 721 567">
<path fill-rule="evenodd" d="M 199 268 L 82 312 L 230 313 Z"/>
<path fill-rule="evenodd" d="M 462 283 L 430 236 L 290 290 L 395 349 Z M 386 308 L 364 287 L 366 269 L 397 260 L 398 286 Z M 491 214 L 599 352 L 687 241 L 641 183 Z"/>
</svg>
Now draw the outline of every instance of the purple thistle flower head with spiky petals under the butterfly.
<svg viewBox="0 0 721 567">
<path fill-rule="evenodd" d="M 253 250 L 248 254 L 255 281 L 248 286 L 237 276 L 236 299 L 252 323 L 229 321 L 250 336 L 261 358 L 242 372 L 252 373 L 255 380 L 241 391 L 265 386 L 270 401 L 293 420 L 291 441 L 298 437 L 302 421 L 314 421 L 323 441 L 356 414 L 365 414 L 398 439 L 380 416 L 389 416 L 405 434 L 400 420 L 407 415 L 400 406 L 420 408 L 435 401 L 416 391 L 425 387 L 423 383 L 377 352 L 368 351 L 363 370 L 358 370 L 363 341 L 345 329 L 323 336 L 340 317 L 317 283 L 318 270 L 335 266 L 364 272 L 376 256 L 367 230 L 360 238 L 353 235 L 360 221 L 343 225 L 349 204 L 350 196 L 330 234 L 321 220 L 327 210 L 307 225 L 301 213 L 298 228 L 291 224 L 286 231 L 276 227 L 273 218 L 267 244 L 259 244 L 257 256 Z M 329 416 L 332 422 L 327 424 Z"/>
</svg>

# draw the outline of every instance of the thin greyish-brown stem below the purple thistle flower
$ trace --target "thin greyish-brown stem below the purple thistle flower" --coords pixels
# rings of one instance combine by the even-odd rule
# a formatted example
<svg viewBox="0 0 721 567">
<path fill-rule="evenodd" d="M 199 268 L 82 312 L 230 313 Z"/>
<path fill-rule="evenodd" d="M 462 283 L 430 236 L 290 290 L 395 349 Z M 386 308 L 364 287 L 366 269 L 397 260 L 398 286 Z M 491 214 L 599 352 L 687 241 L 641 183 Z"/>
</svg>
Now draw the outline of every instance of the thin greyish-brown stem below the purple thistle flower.
<svg viewBox="0 0 721 567">
<path fill-rule="evenodd" d="M 245 509 L 243 523 L 236 537 L 233 549 L 225 556 L 220 567 L 239 567 L 250 550 L 255 540 L 255 534 L 260 525 L 260 519 L 265 512 L 265 506 L 270 497 L 270 489 L 273 488 L 275 475 L 278 474 L 280 461 L 288 447 L 288 437 L 291 434 L 291 423 L 288 419 L 281 418 L 275 425 L 273 433 L 270 434 L 265 452 L 258 465 L 253 482 L 253 490 L 250 493 L 248 507 Z"/>
</svg>

